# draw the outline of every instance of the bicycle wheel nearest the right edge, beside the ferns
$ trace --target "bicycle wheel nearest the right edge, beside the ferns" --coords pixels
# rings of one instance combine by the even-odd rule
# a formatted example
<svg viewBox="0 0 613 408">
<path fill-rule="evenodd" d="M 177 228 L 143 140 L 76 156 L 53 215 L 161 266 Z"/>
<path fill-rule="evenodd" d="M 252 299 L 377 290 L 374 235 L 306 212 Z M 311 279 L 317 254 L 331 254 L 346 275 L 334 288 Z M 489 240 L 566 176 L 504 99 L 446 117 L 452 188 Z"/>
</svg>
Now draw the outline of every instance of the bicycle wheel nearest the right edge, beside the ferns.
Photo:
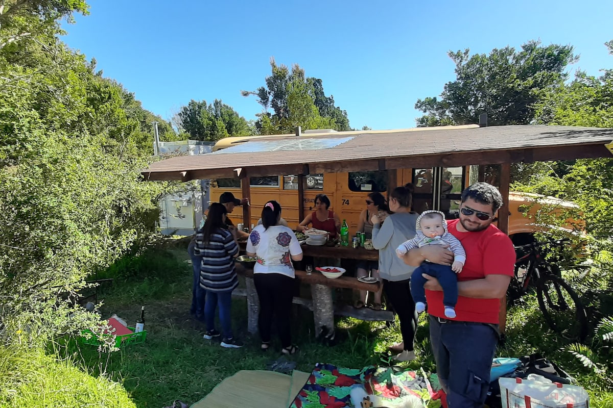
<svg viewBox="0 0 613 408">
<path fill-rule="evenodd" d="M 587 314 L 579 296 L 562 278 L 545 275 L 536 285 L 539 308 L 547 325 L 569 340 L 584 341 L 587 337 Z"/>
</svg>

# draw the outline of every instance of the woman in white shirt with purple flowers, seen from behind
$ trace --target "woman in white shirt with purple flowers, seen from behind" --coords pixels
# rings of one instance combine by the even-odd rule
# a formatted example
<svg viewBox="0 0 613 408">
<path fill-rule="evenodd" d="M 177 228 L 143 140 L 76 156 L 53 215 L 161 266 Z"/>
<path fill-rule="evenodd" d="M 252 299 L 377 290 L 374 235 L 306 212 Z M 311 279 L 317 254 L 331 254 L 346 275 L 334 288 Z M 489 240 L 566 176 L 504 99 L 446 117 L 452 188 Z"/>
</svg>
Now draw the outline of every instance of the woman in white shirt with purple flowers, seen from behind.
<svg viewBox="0 0 613 408">
<path fill-rule="evenodd" d="M 281 339 L 281 352 L 294 354 L 298 347 L 292 345 L 289 317 L 294 297 L 293 261 L 302 259 L 302 248 L 294 231 L 279 225 L 281 206 L 268 201 L 262 209 L 262 224 L 251 231 L 246 253 L 257 261 L 253 267 L 253 280 L 260 300 L 258 328 L 262 338 L 262 350 L 270 347 L 270 329 L 273 316 Z"/>
</svg>

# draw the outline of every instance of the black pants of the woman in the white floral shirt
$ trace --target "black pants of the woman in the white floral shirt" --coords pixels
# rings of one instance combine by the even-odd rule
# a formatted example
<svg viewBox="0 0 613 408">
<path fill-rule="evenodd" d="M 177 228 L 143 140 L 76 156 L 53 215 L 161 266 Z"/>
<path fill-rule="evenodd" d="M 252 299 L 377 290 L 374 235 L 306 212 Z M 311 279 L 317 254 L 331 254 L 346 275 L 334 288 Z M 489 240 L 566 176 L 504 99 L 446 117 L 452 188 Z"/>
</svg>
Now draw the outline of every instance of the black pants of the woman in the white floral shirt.
<svg viewBox="0 0 613 408">
<path fill-rule="evenodd" d="M 289 319 L 294 297 L 294 279 L 280 273 L 254 273 L 257 297 L 260 300 L 260 313 L 257 328 L 262 341 L 270 341 L 273 316 L 276 317 L 276 330 L 279 332 L 281 347 L 292 345 Z"/>
</svg>

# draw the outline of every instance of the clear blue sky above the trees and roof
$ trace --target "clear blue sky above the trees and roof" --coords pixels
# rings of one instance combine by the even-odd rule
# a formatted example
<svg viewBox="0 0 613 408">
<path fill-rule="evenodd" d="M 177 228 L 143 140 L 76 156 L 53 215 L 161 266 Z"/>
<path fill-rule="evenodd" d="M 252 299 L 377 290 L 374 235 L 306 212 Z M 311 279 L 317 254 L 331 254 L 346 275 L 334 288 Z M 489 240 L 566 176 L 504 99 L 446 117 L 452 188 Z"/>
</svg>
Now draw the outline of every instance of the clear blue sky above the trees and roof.
<svg viewBox="0 0 613 408">
<path fill-rule="evenodd" d="M 572 71 L 613 68 L 603 45 L 613 39 L 613 1 L 88 3 L 90 15 L 64 24 L 64 42 L 165 119 L 191 99 L 215 98 L 255 119 L 261 106 L 240 91 L 264 85 L 272 56 L 321 78 L 352 127 L 373 129 L 415 126 L 417 98 L 455 78 L 448 50 L 489 53 L 540 39 L 573 45 L 581 59 Z"/>
</svg>

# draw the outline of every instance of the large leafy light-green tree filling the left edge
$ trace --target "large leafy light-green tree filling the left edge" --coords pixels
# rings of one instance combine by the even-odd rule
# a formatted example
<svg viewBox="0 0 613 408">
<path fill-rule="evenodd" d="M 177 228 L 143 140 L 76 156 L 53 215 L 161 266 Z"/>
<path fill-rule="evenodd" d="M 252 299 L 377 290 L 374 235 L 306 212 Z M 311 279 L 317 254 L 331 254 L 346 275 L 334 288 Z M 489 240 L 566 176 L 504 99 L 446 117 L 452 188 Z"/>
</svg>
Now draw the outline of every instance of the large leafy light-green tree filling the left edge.
<svg viewBox="0 0 613 408">
<path fill-rule="evenodd" d="M 140 182 L 140 103 L 57 38 L 85 3 L 0 6 L 0 338 L 45 341 L 97 319 L 66 300 L 150 242 L 164 185 Z"/>
</svg>

